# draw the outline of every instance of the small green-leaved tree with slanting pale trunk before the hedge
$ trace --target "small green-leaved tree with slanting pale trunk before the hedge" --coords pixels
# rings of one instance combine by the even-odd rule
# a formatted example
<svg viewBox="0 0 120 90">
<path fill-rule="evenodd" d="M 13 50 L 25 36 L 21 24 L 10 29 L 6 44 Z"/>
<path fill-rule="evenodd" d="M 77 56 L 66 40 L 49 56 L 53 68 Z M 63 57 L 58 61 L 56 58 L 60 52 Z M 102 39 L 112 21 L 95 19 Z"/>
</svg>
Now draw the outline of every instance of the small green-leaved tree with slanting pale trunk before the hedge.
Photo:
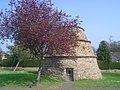
<svg viewBox="0 0 120 90">
<path fill-rule="evenodd" d="M 10 50 L 11 56 L 18 61 L 13 71 L 16 71 L 22 60 L 33 58 L 30 51 L 20 45 L 7 46 L 7 48 Z"/>
</svg>

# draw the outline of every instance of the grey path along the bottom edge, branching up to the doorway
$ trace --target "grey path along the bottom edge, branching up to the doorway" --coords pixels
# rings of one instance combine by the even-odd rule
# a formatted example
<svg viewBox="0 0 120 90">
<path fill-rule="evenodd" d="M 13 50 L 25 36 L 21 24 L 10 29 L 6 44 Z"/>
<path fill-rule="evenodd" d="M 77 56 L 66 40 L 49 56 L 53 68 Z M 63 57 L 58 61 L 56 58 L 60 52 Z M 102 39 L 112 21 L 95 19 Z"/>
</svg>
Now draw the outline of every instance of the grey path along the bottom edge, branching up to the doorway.
<svg viewBox="0 0 120 90">
<path fill-rule="evenodd" d="M 0 90 L 120 90 L 120 88 L 75 88 L 73 82 L 66 82 L 56 89 L 40 89 L 36 88 L 0 88 Z"/>
</svg>

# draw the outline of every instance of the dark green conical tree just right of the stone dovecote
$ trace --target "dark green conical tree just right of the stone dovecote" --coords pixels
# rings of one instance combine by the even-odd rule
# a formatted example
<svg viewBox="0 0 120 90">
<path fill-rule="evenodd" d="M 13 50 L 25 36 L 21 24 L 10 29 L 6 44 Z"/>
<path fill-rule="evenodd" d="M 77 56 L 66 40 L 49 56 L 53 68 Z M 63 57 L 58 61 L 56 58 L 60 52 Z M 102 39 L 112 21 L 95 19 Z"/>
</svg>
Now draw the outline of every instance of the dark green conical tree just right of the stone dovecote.
<svg viewBox="0 0 120 90">
<path fill-rule="evenodd" d="M 111 52 L 109 49 L 109 44 L 106 41 L 100 42 L 97 49 L 97 59 L 108 63 L 108 65 L 111 62 Z"/>
</svg>

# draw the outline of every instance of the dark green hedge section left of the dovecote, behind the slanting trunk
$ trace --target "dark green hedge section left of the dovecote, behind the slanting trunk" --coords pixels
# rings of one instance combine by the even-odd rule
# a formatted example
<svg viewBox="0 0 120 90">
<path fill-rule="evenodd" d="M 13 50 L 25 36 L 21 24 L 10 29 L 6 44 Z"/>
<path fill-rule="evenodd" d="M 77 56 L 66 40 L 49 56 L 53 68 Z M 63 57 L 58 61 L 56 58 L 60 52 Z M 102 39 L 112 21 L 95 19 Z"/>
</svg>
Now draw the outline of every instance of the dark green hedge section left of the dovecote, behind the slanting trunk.
<svg viewBox="0 0 120 90">
<path fill-rule="evenodd" d="M 0 66 L 3 67 L 15 67 L 17 64 L 17 60 L 13 58 L 8 58 L 4 59 L 1 63 Z M 37 60 L 23 60 L 20 62 L 20 67 L 38 67 L 39 62 Z"/>
</svg>

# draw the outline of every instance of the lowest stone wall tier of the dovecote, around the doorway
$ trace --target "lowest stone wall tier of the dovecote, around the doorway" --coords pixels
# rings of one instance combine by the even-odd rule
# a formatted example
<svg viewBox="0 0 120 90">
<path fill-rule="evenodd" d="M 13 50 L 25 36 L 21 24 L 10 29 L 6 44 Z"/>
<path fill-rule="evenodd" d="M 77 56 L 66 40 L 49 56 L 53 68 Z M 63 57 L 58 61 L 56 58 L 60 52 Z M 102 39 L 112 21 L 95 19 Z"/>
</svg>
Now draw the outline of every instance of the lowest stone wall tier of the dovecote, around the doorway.
<svg viewBox="0 0 120 90">
<path fill-rule="evenodd" d="M 102 78 L 95 57 L 77 57 L 75 61 L 65 57 L 48 57 L 42 74 L 67 80 L 66 68 L 74 69 L 74 80 Z"/>
</svg>

